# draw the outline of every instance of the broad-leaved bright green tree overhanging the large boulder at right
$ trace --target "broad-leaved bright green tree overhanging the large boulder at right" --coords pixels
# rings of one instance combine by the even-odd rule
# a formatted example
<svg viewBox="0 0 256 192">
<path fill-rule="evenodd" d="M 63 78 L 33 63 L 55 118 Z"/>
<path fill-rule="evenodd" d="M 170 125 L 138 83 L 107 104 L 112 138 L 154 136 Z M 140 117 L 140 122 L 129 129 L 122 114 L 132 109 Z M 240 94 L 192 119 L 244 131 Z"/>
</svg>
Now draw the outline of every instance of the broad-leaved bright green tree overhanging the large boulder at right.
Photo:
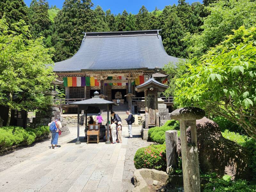
<svg viewBox="0 0 256 192">
<path fill-rule="evenodd" d="M 233 31 L 176 81 L 175 103 L 239 124 L 256 139 L 256 28 Z"/>
</svg>

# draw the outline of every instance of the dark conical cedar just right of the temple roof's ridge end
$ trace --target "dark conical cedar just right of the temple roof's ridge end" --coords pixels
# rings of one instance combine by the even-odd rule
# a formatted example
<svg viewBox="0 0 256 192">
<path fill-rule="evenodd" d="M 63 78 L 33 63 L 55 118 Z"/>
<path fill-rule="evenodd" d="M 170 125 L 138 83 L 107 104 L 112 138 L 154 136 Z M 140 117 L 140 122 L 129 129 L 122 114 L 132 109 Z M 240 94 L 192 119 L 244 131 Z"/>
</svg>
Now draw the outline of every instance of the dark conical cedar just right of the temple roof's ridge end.
<svg viewBox="0 0 256 192">
<path fill-rule="evenodd" d="M 174 57 L 186 57 L 183 51 L 185 44 L 181 40 L 185 36 L 185 28 L 176 13 L 168 15 L 162 28 L 161 36 L 166 52 Z"/>
</svg>

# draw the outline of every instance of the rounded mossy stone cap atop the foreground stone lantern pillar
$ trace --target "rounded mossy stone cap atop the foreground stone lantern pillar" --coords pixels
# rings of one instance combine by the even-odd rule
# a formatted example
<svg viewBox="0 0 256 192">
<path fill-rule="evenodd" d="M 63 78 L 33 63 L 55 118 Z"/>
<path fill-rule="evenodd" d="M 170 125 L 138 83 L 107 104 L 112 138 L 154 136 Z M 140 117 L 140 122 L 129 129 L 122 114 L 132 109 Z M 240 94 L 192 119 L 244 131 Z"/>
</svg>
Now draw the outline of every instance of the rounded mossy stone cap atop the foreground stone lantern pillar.
<svg viewBox="0 0 256 192">
<path fill-rule="evenodd" d="M 171 113 L 171 118 L 175 120 L 194 120 L 194 119 L 202 119 L 205 115 L 205 111 L 203 109 L 197 107 L 184 107 L 179 108 Z"/>
</svg>

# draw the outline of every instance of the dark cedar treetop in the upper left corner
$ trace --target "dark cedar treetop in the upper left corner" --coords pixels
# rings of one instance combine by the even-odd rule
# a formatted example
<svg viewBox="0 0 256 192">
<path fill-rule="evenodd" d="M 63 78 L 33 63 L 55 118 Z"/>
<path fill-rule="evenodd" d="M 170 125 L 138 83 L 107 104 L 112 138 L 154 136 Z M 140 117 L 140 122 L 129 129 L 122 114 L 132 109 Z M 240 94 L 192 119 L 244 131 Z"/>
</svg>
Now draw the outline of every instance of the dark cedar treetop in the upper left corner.
<svg viewBox="0 0 256 192">
<path fill-rule="evenodd" d="M 23 0 L 1 0 L 0 1 L 0 19 L 5 13 L 5 19 L 14 30 L 11 24 L 18 22 L 20 19 L 28 23 L 28 7 Z"/>
</svg>

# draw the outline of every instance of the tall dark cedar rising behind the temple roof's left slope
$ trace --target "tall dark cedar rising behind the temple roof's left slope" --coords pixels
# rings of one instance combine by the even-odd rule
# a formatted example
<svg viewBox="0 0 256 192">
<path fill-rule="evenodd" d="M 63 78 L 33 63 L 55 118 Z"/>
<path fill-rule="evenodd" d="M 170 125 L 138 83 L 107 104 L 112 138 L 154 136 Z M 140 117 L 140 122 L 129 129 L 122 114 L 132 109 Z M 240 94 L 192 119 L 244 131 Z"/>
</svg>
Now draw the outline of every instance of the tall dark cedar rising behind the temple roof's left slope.
<svg viewBox="0 0 256 192">
<path fill-rule="evenodd" d="M 65 0 L 62 10 L 55 17 L 55 61 L 73 56 L 83 39 L 82 32 L 95 30 L 92 7 L 91 0 Z"/>
</svg>

